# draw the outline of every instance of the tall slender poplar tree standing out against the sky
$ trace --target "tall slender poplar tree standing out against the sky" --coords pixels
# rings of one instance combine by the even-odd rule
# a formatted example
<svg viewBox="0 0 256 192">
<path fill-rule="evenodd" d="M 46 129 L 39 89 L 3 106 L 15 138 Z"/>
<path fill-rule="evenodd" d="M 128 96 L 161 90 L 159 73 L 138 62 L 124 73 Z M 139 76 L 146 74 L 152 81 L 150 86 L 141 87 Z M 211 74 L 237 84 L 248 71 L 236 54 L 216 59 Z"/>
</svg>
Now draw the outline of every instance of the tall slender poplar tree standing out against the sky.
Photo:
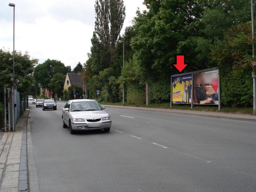
<svg viewBox="0 0 256 192">
<path fill-rule="evenodd" d="M 123 0 L 96 0 L 95 34 L 109 49 L 109 67 L 113 64 L 116 40 L 124 24 L 125 6 Z"/>
</svg>

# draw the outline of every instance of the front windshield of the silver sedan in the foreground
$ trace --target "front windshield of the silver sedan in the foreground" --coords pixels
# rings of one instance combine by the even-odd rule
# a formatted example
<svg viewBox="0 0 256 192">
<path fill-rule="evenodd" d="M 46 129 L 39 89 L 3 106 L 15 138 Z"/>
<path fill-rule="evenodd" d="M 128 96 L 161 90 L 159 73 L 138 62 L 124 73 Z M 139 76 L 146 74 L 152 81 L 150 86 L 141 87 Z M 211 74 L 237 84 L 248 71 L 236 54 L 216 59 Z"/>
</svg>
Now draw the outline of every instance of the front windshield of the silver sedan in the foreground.
<svg viewBox="0 0 256 192">
<path fill-rule="evenodd" d="M 71 111 L 96 111 L 102 110 L 96 101 L 79 101 L 71 104 Z"/>
</svg>

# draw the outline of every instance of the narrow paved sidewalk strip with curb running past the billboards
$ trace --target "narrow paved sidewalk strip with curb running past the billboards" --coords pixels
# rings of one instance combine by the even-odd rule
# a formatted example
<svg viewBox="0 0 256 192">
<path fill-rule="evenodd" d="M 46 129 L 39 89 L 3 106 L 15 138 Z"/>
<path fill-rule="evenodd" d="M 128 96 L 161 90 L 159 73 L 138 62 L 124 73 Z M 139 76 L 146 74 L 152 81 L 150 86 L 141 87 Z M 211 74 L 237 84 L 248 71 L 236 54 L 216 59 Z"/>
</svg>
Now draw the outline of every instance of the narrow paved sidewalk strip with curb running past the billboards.
<svg viewBox="0 0 256 192">
<path fill-rule="evenodd" d="M 231 117 L 231 116 L 221 116 L 221 115 L 207 115 L 207 114 L 196 114 L 196 113 L 188 113 L 188 112 L 180 112 L 176 111 L 175 109 L 159 109 L 159 108 L 138 108 L 138 107 L 129 107 L 129 106 L 115 106 L 115 105 L 104 105 L 106 107 L 112 108 L 123 108 L 123 109 L 132 109 L 132 110 L 141 110 L 141 111 L 156 111 L 162 113 L 170 113 L 170 114 L 178 114 L 178 115 L 189 115 L 189 116 L 198 116 L 198 117 L 210 117 L 210 118 L 217 118 L 217 119 L 228 119 L 228 120 L 237 120 L 237 121 L 249 121 L 249 122 L 256 122 L 255 118 L 243 118 L 243 117 Z M 175 110 L 175 111 L 172 111 Z M 196 111 L 195 111 L 196 112 Z M 212 112 L 214 113 L 214 112 Z M 219 112 L 215 112 L 219 113 Z M 237 114 L 234 114 L 237 115 Z"/>
</svg>

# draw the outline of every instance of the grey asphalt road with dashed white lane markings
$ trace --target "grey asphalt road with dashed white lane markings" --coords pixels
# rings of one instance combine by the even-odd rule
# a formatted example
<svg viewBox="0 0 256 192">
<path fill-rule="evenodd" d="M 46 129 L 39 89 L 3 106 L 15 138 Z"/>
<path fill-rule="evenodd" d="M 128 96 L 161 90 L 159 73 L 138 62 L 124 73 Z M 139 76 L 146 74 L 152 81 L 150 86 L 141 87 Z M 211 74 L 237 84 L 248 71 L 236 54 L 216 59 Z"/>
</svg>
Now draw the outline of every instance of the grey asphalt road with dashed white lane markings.
<svg viewBox="0 0 256 192">
<path fill-rule="evenodd" d="M 256 191 L 253 122 L 106 108 L 110 132 L 75 135 L 31 106 L 41 192 Z"/>
</svg>

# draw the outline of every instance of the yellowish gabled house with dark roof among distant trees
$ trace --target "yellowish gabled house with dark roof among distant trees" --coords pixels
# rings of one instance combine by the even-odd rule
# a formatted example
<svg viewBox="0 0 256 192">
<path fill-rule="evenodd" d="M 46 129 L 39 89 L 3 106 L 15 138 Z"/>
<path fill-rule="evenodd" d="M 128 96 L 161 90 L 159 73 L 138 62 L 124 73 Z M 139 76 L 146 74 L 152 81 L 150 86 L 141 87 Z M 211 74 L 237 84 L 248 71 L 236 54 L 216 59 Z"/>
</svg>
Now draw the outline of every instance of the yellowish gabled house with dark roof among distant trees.
<svg viewBox="0 0 256 192">
<path fill-rule="evenodd" d="M 71 85 L 79 85 L 81 87 L 84 86 L 83 75 L 81 72 L 78 71 L 77 73 L 67 73 L 63 90 L 68 90 L 68 87 Z"/>
</svg>

